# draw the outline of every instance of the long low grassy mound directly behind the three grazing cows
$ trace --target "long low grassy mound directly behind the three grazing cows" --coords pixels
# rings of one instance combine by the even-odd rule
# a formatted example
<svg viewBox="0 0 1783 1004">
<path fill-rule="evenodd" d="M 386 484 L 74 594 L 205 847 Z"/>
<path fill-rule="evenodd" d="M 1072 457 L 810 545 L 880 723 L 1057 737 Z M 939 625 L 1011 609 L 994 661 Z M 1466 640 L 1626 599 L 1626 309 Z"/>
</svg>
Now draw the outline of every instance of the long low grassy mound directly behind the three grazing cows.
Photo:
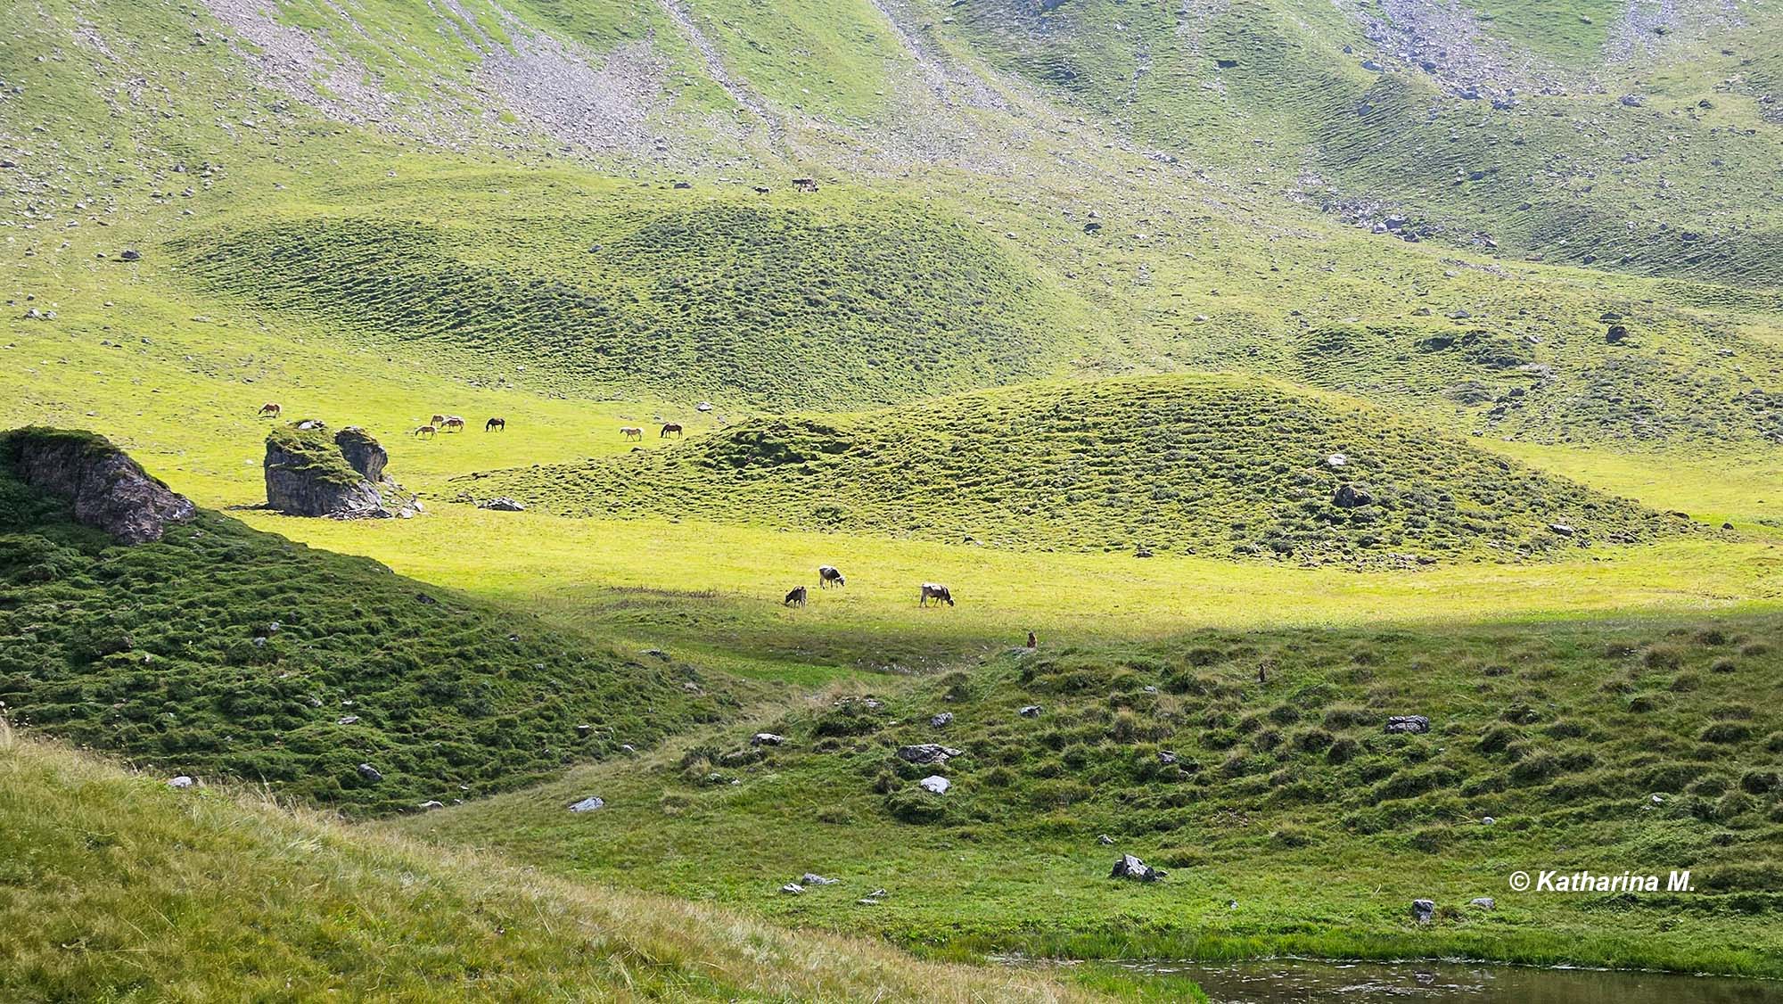
<svg viewBox="0 0 1783 1004">
<path fill-rule="evenodd" d="M 754 419 L 678 449 L 460 483 L 571 515 L 1311 564 L 1514 560 L 1683 526 L 1384 412 L 1227 376 Z"/>
</svg>

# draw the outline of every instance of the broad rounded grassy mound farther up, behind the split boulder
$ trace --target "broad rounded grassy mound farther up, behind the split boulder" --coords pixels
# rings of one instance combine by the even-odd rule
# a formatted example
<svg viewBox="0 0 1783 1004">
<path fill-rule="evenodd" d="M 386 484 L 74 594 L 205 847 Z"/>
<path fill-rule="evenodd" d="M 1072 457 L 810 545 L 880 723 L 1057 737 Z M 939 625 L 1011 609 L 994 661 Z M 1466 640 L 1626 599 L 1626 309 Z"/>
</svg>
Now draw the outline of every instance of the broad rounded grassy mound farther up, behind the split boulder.
<svg viewBox="0 0 1783 1004">
<path fill-rule="evenodd" d="M 890 403 L 1045 373 L 1068 341 L 1061 298 L 963 219 L 902 198 L 722 193 L 465 203 L 460 225 L 257 219 L 178 253 L 205 292 L 553 389 Z"/>
</svg>

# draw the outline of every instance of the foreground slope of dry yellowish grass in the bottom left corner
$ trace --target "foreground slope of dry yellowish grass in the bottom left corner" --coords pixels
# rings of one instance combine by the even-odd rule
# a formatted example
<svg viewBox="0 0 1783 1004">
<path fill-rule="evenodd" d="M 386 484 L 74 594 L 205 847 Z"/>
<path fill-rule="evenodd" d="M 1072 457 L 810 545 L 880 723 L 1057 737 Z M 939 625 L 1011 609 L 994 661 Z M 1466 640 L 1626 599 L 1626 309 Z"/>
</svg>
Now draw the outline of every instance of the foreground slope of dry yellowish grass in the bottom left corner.
<svg viewBox="0 0 1783 1004">
<path fill-rule="evenodd" d="M 0 726 L 7 1000 L 1079 1000 L 665 897 L 522 874 Z"/>
</svg>

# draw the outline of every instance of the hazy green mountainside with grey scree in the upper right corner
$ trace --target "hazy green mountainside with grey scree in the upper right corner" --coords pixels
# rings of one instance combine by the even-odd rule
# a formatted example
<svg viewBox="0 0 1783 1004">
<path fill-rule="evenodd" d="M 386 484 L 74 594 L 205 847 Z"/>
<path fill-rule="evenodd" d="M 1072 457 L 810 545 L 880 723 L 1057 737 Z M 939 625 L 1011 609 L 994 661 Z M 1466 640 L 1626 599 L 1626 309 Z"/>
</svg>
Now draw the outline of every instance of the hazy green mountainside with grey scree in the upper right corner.
<svg viewBox="0 0 1783 1004">
<path fill-rule="evenodd" d="M 1576 7 L 1544 7 L 1565 25 L 1542 36 L 1590 18 Z M 1139 143 L 1255 168 L 1364 225 L 1400 216 L 1425 239 L 1776 287 L 1779 136 L 1762 95 L 1730 84 L 1776 12 L 1678 7 L 1697 21 L 1687 41 L 1565 64 L 1437 4 L 1023 0 L 941 30 Z"/>
</svg>

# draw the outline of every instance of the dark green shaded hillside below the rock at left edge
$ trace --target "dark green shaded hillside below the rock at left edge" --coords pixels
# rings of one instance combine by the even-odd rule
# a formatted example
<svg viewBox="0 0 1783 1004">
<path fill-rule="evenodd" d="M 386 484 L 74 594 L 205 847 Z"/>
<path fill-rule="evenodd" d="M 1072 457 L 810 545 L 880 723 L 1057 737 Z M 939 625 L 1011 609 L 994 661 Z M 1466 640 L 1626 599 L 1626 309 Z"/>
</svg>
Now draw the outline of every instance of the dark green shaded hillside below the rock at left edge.
<svg viewBox="0 0 1783 1004">
<path fill-rule="evenodd" d="M 123 547 L 0 462 L 5 715 L 146 769 L 451 802 L 724 715 L 697 681 L 210 512 Z"/>
</svg>

